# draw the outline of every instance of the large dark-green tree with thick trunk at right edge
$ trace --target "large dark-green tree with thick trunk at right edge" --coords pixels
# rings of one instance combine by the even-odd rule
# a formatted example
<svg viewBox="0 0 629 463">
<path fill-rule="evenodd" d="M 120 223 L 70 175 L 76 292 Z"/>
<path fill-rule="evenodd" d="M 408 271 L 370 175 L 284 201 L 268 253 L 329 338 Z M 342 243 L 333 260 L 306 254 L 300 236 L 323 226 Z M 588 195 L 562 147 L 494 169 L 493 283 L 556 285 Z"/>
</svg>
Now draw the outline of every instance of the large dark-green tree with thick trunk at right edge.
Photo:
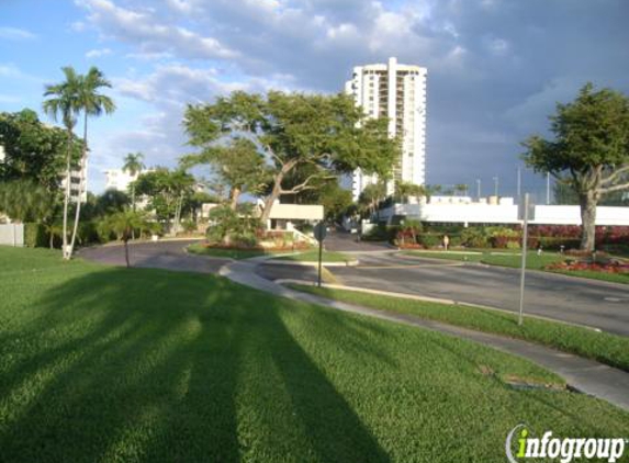
<svg viewBox="0 0 629 463">
<path fill-rule="evenodd" d="M 523 158 L 577 193 L 581 249 L 593 251 L 598 202 L 605 194 L 629 190 L 629 99 L 587 83 L 572 103 L 558 103 L 550 121 L 554 140 L 528 138 Z"/>
</svg>

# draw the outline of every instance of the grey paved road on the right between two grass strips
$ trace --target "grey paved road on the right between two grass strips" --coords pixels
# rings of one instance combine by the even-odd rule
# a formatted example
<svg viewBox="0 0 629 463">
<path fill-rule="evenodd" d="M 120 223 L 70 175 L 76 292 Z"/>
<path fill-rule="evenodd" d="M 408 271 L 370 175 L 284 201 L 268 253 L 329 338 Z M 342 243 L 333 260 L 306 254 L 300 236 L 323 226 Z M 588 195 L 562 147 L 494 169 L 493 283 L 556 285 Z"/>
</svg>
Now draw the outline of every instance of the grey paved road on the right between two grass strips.
<svg viewBox="0 0 629 463">
<path fill-rule="evenodd" d="M 517 312 L 516 269 L 460 264 L 400 255 L 360 255 L 360 266 L 330 269 L 350 286 L 451 298 Z M 629 336 L 629 286 L 528 272 L 527 313 Z"/>
</svg>

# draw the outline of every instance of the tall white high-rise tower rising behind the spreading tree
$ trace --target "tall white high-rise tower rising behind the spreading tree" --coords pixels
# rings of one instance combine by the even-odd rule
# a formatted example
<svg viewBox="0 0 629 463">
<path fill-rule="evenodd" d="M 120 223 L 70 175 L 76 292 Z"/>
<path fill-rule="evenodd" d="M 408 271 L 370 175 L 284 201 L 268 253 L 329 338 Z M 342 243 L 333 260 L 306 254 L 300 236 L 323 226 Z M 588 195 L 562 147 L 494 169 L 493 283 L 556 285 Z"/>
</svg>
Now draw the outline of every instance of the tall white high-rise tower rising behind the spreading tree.
<svg viewBox="0 0 629 463">
<path fill-rule="evenodd" d="M 393 167 L 394 181 L 424 184 L 426 181 L 426 76 L 427 69 L 401 65 L 396 58 L 387 64 L 357 66 L 345 91 L 371 117 L 389 117 L 389 135 L 402 139 L 402 157 Z M 355 201 L 377 176 L 353 172 L 351 192 Z M 393 192 L 394 183 L 387 185 Z"/>
</svg>

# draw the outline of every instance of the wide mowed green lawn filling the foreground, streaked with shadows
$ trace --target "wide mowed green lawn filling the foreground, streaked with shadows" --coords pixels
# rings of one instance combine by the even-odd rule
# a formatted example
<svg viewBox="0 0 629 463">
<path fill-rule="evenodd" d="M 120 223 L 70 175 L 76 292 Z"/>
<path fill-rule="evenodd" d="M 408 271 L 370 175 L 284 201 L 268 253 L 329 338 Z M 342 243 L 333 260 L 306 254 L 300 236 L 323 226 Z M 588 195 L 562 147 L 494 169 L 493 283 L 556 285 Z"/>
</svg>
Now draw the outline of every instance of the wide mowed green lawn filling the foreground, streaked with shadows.
<svg viewBox="0 0 629 463">
<path fill-rule="evenodd" d="M 0 247 L 7 462 L 498 462 L 519 422 L 626 436 L 629 414 L 481 346 L 212 275 Z"/>
</svg>

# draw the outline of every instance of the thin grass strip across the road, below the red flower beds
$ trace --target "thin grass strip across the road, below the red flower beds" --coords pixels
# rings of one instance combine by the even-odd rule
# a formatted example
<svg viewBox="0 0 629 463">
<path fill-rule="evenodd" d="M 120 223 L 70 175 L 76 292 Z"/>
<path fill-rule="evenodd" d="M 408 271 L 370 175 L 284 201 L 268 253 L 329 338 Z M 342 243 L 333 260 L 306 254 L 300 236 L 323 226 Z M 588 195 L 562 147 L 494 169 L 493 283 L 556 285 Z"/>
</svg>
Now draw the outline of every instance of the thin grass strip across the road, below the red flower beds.
<svg viewBox="0 0 629 463">
<path fill-rule="evenodd" d="M 487 266 L 510 267 L 519 269 L 521 267 L 521 253 L 501 252 L 496 250 L 478 250 L 478 251 L 402 251 L 403 255 L 411 257 L 423 257 L 430 259 L 446 259 L 458 260 L 467 262 L 481 262 Z M 611 283 L 626 283 L 629 284 L 629 273 L 607 273 L 596 272 L 591 270 L 546 270 L 544 268 L 551 263 L 557 263 L 565 260 L 568 256 L 559 252 L 542 252 L 538 255 L 537 251 L 529 251 L 527 253 L 527 269 L 540 270 L 549 273 L 560 273 L 569 276 L 581 276 L 591 280 L 600 280 Z"/>
</svg>

